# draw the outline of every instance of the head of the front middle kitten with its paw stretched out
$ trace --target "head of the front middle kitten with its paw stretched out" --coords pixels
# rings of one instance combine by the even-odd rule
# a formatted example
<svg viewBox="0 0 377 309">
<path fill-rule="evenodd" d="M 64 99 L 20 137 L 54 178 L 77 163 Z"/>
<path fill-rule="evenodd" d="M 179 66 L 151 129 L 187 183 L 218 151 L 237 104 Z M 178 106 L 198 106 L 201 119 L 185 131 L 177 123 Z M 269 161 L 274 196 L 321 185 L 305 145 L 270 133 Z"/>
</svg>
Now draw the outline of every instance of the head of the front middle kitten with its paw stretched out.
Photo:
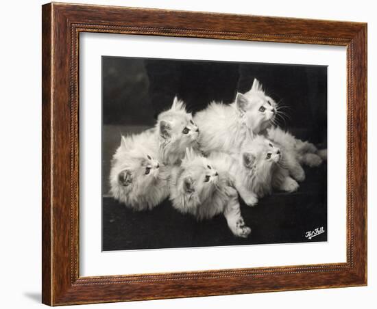
<svg viewBox="0 0 377 309">
<path fill-rule="evenodd" d="M 182 189 L 186 193 L 197 193 L 206 198 L 219 182 L 219 173 L 208 159 L 194 154 L 186 154 L 182 161 Z"/>
</svg>

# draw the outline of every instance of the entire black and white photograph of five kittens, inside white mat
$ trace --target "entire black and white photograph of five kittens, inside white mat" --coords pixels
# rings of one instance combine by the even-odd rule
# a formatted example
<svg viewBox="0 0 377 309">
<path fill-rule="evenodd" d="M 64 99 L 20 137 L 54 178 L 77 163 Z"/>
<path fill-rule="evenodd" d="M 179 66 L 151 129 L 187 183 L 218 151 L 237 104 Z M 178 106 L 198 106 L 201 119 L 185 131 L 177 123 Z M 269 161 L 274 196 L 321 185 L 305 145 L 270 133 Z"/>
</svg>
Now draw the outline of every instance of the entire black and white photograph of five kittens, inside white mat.
<svg viewBox="0 0 377 309">
<path fill-rule="evenodd" d="M 101 66 L 103 251 L 328 240 L 327 66 Z"/>
</svg>

